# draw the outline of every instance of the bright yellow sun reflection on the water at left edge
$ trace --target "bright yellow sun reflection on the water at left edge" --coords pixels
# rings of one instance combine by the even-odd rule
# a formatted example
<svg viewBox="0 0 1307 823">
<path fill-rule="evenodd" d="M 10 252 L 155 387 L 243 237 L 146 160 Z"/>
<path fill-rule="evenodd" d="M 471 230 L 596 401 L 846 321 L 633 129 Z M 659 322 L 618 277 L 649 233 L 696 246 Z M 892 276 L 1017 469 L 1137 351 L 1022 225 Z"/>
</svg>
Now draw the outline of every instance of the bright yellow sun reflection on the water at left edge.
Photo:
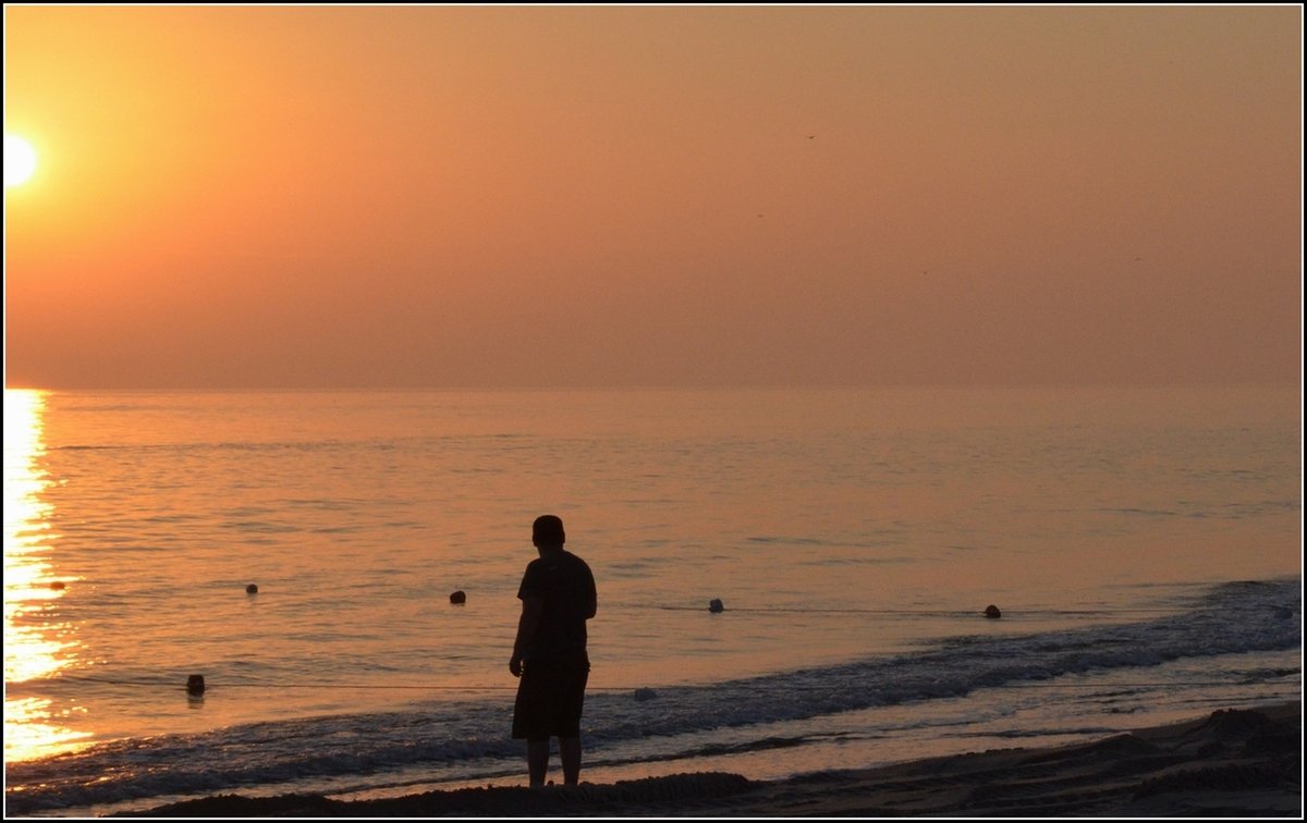
<svg viewBox="0 0 1307 823">
<path fill-rule="evenodd" d="M 4 392 L 4 758 L 30 760 L 80 747 L 90 737 L 64 725 L 77 709 L 55 711 L 51 700 L 14 696 L 16 686 L 47 678 L 71 665 L 76 640 L 59 619 L 69 580 L 51 566 L 56 534 L 51 506 L 42 500 L 48 478 L 38 465 L 44 453 L 43 392 Z"/>
</svg>

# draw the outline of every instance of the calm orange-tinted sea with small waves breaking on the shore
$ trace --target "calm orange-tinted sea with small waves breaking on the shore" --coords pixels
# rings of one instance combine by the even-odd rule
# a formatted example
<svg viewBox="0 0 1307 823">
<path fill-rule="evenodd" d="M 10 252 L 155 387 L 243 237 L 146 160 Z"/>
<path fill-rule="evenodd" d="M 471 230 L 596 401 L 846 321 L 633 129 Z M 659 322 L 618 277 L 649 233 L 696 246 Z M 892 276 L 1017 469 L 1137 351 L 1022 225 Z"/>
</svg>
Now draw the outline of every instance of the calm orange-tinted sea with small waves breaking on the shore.
<svg viewBox="0 0 1307 823">
<path fill-rule="evenodd" d="M 7 389 L 4 430 L 8 816 L 525 785 L 542 513 L 597 580 L 588 781 L 1302 702 L 1295 385 Z"/>
</svg>

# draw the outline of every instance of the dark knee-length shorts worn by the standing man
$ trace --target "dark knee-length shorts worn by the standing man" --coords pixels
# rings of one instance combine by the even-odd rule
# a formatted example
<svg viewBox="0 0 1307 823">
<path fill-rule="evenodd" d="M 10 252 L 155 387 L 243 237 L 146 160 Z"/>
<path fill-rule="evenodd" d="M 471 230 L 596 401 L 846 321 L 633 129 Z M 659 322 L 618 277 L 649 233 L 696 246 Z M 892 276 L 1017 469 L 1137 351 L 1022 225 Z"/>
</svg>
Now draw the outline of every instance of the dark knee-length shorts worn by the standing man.
<svg viewBox="0 0 1307 823">
<path fill-rule="evenodd" d="M 512 707 L 512 737 L 528 741 L 580 737 L 588 678 L 589 657 L 584 651 L 524 662 Z"/>
</svg>

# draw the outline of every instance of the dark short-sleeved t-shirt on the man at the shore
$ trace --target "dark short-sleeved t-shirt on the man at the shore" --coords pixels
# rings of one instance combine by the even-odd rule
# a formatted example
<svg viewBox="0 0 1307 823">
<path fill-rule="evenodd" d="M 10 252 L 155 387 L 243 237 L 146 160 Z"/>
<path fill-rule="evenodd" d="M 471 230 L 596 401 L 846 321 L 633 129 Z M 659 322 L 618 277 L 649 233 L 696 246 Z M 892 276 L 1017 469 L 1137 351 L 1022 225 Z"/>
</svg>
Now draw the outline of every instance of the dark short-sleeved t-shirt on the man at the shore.
<svg viewBox="0 0 1307 823">
<path fill-rule="evenodd" d="M 536 635 L 527 644 L 524 660 L 554 657 L 586 649 L 586 618 L 595 602 L 595 576 L 575 554 L 549 551 L 527 566 L 518 597 L 545 601 Z"/>
</svg>

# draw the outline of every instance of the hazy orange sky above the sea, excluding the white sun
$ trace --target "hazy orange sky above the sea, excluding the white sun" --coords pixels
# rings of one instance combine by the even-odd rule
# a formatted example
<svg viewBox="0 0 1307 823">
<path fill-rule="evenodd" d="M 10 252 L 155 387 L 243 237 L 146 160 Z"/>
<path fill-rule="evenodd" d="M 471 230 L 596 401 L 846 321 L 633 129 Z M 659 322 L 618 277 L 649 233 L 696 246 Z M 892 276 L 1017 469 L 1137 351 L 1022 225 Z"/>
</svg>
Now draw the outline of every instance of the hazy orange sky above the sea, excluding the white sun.
<svg viewBox="0 0 1307 823">
<path fill-rule="evenodd" d="M 8 387 L 1300 379 L 1299 7 L 4 22 Z"/>
</svg>

